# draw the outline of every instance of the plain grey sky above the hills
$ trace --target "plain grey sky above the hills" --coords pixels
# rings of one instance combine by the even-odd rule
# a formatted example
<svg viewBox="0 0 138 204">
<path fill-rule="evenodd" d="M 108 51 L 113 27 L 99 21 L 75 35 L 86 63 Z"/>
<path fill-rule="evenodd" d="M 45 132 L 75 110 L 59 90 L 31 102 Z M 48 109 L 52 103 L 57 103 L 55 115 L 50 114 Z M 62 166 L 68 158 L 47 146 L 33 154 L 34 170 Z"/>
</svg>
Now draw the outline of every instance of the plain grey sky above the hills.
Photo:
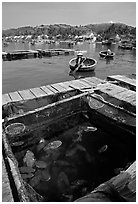
<svg viewBox="0 0 138 204">
<path fill-rule="evenodd" d="M 136 2 L 2 2 L 2 29 L 65 23 L 136 26 Z"/>
</svg>

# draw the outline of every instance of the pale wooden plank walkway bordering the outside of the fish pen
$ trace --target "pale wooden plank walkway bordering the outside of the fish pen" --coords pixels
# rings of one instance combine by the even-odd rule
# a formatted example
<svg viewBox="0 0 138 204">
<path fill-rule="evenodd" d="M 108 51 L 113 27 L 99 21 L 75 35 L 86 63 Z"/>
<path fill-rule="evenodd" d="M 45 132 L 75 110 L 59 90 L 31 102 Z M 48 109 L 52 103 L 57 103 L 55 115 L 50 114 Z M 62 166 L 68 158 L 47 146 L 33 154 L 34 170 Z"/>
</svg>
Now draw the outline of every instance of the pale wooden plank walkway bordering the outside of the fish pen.
<svg viewBox="0 0 138 204">
<path fill-rule="evenodd" d="M 117 84 L 114 83 L 117 81 Z M 112 83 L 113 82 L 113 83 Z M 64 98 L 69 98 L 82 92 L 97 90 L 108 103 L 117 105 L 136 116 L 136 81 L 126 76 L 109 76 L 107 80 L 96 77 L 87 77 L 78 80 L 55 83 L 51 85 L 18 90 L 2 95 L 2 113 L 8 109 L 9 118 L 20 116 L 25 112 L 34 110 Z M 10 106 L 12 104 L 12 106 Z M 10 111 L 9 111 L 10 110 Z M 4 118 L 3 117 L 3 118 Z M 3 178 L 3 201 L 13 201 L 12 191 L 8 183 L 6 168 L 2 166 Z M 7 185 L 8 183 L 8 185 Z M 8 196 L 7 196 L 8 195 Z"/>
</svg>

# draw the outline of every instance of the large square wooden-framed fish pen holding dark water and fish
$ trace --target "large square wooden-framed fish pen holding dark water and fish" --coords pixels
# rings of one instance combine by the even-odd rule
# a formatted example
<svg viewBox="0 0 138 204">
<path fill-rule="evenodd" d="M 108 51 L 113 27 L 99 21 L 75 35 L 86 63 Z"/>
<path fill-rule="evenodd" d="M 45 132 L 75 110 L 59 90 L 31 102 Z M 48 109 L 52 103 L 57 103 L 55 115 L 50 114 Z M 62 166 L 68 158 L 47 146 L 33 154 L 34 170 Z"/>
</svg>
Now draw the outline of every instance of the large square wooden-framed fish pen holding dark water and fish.
<svg viewBox="0 0 138 204">
<path fill-rule="evenodd" d="M 135 159 L 136 116 L 128 106 L 120 107 L 122 102 L 114 105 L 113 98 L 99 89 L 74 88 L 77 95 L 15 114 L 2 123 L 4 161 L 18 202 L 74 201 L 82 196 L 81 191 L 73 195 L 76 188 L 85 187 L 84 196 L 111 179 L 120 162 L 126 165 Z"/>
</svg>

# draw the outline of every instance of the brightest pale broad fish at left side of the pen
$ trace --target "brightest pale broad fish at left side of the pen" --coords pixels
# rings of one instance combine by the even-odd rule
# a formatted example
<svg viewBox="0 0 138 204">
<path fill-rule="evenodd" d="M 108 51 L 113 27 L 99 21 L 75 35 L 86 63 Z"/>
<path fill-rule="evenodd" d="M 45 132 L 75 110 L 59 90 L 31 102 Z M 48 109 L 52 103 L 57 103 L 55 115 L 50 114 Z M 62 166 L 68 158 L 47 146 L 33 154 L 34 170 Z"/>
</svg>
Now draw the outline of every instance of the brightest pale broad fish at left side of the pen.
<svg viewBox="0 0 138 204">
<path fill-rule="evenodd" d="M 27 150 L 25 157 L 23 158 L 24 163 L 26 163 L 27 166 L 32 167 L 36 161 L 34 157 L 34 153 L 30 150 Z"/>
</svg>

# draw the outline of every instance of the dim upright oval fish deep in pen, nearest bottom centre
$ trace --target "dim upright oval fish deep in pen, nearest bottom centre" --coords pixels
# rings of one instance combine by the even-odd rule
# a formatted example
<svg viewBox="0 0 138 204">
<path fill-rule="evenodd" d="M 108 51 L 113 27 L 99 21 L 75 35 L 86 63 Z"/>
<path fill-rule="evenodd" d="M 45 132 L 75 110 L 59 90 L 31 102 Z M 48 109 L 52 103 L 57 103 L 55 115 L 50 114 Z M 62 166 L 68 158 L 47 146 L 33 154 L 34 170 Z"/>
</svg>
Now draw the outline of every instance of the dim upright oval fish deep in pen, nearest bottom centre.
<svg viewBox="0 0 138 204">
<path fill-rule="evenodd" d="M 61 193 L 64 193 L 66 189 L 70 186 L 68 177 L 63 171 L 60 172 L 58 175 L 57 185 Z"/>
</svg>

